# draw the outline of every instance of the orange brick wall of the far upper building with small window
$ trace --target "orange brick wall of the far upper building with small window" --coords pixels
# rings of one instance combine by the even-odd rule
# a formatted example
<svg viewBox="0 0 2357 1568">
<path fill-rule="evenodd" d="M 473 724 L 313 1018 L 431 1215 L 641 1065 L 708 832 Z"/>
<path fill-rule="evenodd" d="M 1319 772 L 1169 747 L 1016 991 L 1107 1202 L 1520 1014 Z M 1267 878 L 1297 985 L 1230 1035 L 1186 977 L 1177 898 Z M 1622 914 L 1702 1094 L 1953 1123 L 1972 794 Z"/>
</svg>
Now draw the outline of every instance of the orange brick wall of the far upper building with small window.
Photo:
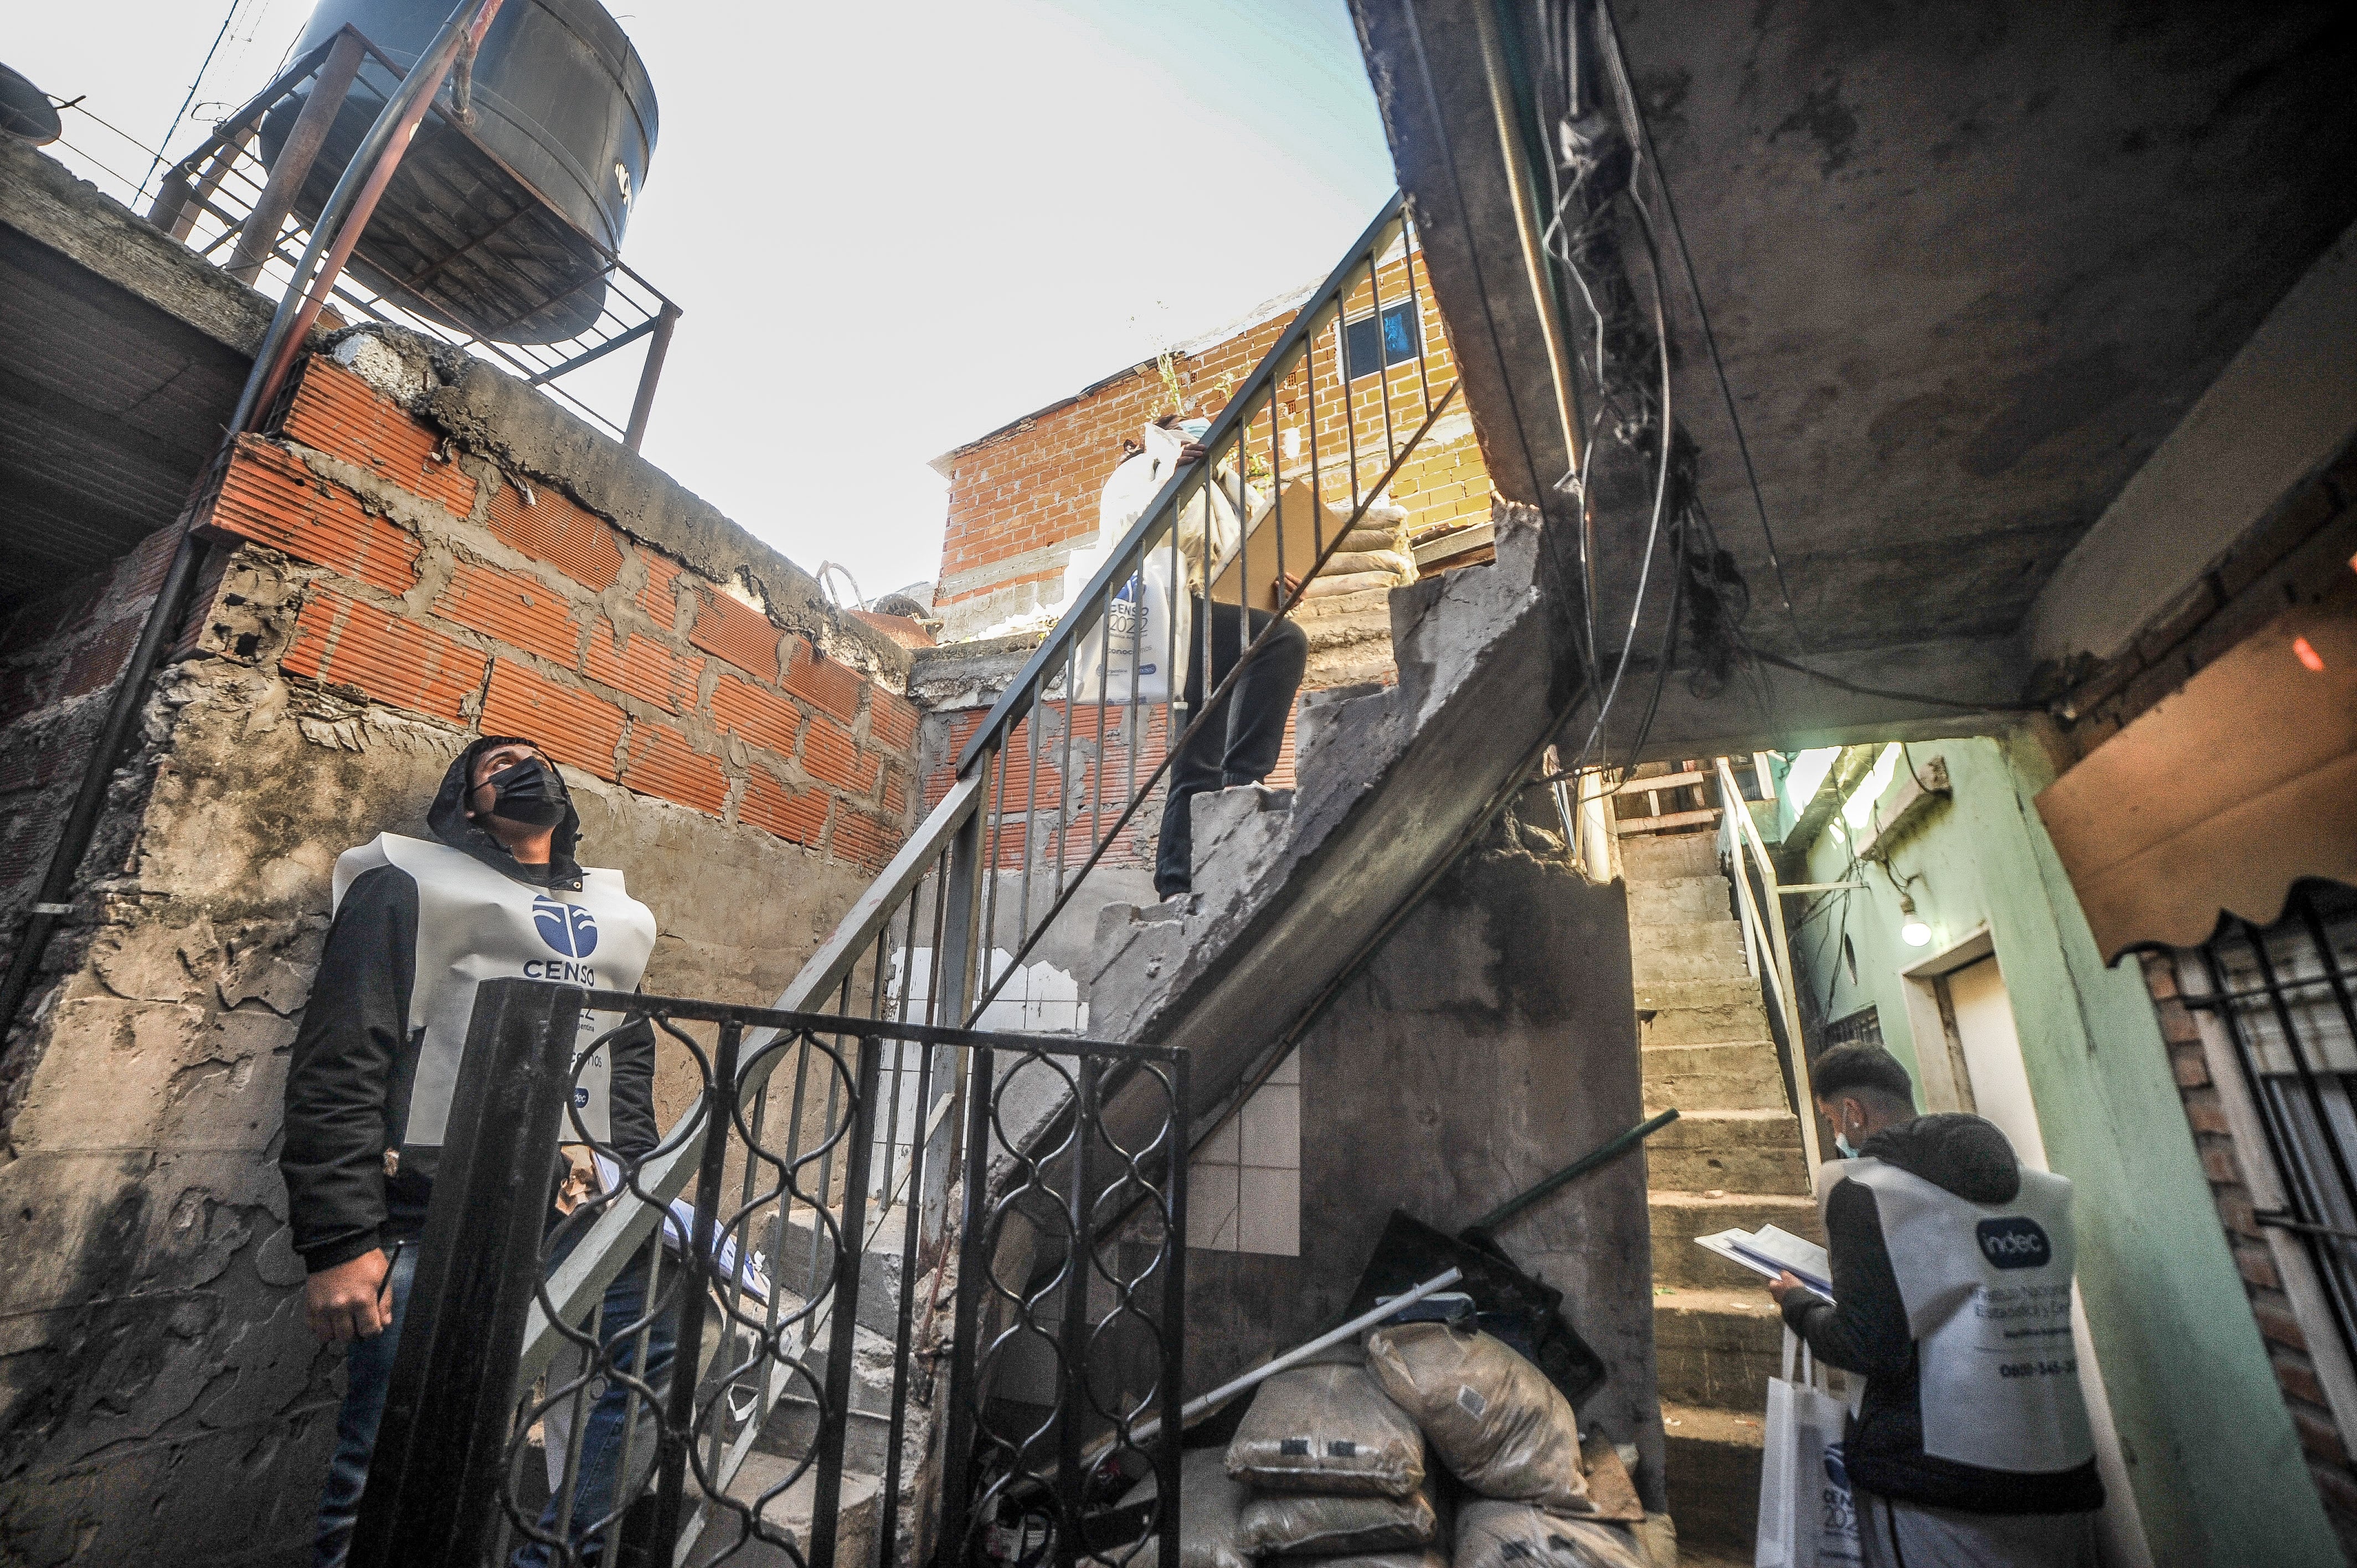
<svg viewBox="0 0 2357 1568">
<path fill-rule="evenodd" d="M 1351 500 L 1351 443 L 1355 441 L 1358 476 L 1372 488 L 1388 462 L 1391 446 L 1405 443 L 1424 417 L 1424 387 L 1438 401 L 1457 380 L 1454 358 L 1440 314 L 1433 309 L 1421 257 L 1414 264 L 1414 292 L 1424 309 L 1424 365 L 1402 361 L 1381 377 L 1365 375 L 1351 387 L 1348 417 L 1341 396 L 1341 351 L 1334 328 L 1327 328 L 1313 351 L 1313 365 L 1301 365 L 1280 387 L 1280 429 L 1303 429 L 1299 457 L 1287 472 L 1308 469 L 1310 441 L 1306 427 L 1315 406 L 1315 448 L 1320 490 L 1329 500 Z M 1372 311 L 1376 295 L 1386 307 L 1407 299 L 1409 266 L 1393 262 L 1374 288 L 1360 288 L 1346 316 Z M 1244 328 L 1197 354 L 1174 361 L 1186 410 L 1219 401 L 1223 382 L 1242 384 L 1277 337 L 1292 325 L 1292 311 Z M 1310 375 L 1315 368 L 1315 377 Z M 1386 446 L 1384 396 L 1391 396 L 1391 434 Z M 1087 540 L 1096 533 L 1096 500 L 1105 479 L 1120 465 L 1124 436 L 1169 413 L 1169 389 L 1157 365 L 1138 365 L 1091 387 L 1070 403 L 1042 410 L 959 448 L 950 469 L 948 531 L 940 547 L 940 597 L 936 611 L 978 601 L 997 589 L 1037 582 L 1039 597 L 1054 601 L 1063 566 L 1037 552 Z M 1409 509 L 1412 531 L 1435 531 L 1490 516 L 1490 481 L 1468 427 L 1445 422 L 1445 446 L 1419 450 L 1393 483 L 1393 498 Z M 1454 427 L 1450 431 L 1447 427 Z M 1261 417 L 1249 436 L 1256 462 L 1268 462 L 1270 431 Z M 1282 453 L 1280 453 L 1282 457 Z M 1431 472 L 1426 472 L 1431 469 Z M 985 611 L 985 620 L 995 611 Z M 971 634 L 978 627 L 966 627 Z"/>
</svg>

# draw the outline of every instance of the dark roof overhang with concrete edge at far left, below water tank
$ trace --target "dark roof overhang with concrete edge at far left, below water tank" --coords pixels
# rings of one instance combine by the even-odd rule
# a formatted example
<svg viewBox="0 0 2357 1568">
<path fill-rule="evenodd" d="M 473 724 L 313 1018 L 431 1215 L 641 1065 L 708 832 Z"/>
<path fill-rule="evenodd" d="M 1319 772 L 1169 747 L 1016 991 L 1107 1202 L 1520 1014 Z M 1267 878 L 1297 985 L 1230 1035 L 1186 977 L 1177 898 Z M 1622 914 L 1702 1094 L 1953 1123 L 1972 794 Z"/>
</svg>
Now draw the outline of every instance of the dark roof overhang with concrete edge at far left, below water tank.
<svg viewBox="0 0 2357 1568">
<path fill-rule="evenodd" d="M 271 304 L 0 137 L 0 613 L 167 526 Z"/>
</svg>

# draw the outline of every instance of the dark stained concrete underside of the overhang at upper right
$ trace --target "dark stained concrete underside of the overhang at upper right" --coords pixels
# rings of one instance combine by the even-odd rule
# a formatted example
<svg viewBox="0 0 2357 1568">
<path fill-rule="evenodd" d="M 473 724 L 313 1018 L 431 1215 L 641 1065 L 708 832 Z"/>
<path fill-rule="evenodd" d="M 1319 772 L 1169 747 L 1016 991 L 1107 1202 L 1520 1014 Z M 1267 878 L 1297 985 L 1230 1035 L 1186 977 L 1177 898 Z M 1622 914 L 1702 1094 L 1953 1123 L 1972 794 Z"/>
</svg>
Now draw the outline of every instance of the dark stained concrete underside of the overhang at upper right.
<svg viewBox="0 0 2357 1568">
<path fill-rule="evenodd" d="M 1556 519 L 1565 441 L 1478 5 L 1353 0 L 1492 479 Z M 1492 14 L 1527 94 L 1539 7 Z M 2039 589 L 2357 219 L 2357 14 L 1619 0 L 1615 17 L 1791 585 L 1787 615 L 1671 259 L 1673 406 L 1751 589 L 1744 632 L 1855 686 L 1945 698 L 1777 667 L 1697 698 L 1673 672 L 1645 755 L 2008 722 Z M 1633 278 L 1650 309 L 1640 262 Z M 1607 651 L 1645 502 L 1617 486 L 1598 509 Z M 1619 740 L 1657 684 L 1657 608 L 1633 646 Z"/>
</svg>

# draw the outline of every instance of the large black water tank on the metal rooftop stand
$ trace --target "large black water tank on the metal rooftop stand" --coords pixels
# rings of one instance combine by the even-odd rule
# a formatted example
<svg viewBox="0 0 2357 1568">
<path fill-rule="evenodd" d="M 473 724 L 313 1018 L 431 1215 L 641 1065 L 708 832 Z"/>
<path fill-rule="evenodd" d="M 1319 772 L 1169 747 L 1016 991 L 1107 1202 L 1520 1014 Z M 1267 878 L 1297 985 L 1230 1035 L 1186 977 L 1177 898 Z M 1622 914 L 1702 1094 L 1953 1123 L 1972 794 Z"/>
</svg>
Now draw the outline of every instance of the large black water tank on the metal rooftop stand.
<svg viewBox="0 0 2357 1568">
<path fill-rule="evenodd" d="M 321 0 L 297 54 L 351 26 L 403 71 L 453 0 Z M 295 210 L 311 219 L 391 90 L 368 61 Z M 443 94 L 441 104 L 448 106 Z M 655 156 L 655 87 L 599 0 L 507 0 L 474 61 L 471 125 L 429 118 L 354 255 L 403 309 L 493 342 L 561 342 L 596 321 L 603 269 Z M 299 99 L 262 127 L 276 160 Z"/>
</svg>

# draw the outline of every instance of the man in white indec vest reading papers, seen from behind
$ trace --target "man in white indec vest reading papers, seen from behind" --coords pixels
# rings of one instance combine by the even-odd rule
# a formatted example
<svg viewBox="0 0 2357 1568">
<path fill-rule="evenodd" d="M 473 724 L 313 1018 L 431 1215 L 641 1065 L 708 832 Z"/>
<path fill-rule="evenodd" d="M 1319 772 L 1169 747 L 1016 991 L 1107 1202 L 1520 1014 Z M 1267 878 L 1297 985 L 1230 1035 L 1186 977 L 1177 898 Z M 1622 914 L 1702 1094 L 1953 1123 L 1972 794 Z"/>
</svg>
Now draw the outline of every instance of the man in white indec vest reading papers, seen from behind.
<svg viewBox="0 0 2357 1568">
<path fill-rule="evenodd" d="M 1817 1361 L 1864 1372 L 1841 1462 L 1869 1568 L 2081 1568 L 2102 1507 L 2072 1349 L 2069 1181 L 1978 1115 L 1916 1115 L 1879 1045 L 1810 1073 L 1834 1299 L 1768 1290 Z"/>
</svg>

